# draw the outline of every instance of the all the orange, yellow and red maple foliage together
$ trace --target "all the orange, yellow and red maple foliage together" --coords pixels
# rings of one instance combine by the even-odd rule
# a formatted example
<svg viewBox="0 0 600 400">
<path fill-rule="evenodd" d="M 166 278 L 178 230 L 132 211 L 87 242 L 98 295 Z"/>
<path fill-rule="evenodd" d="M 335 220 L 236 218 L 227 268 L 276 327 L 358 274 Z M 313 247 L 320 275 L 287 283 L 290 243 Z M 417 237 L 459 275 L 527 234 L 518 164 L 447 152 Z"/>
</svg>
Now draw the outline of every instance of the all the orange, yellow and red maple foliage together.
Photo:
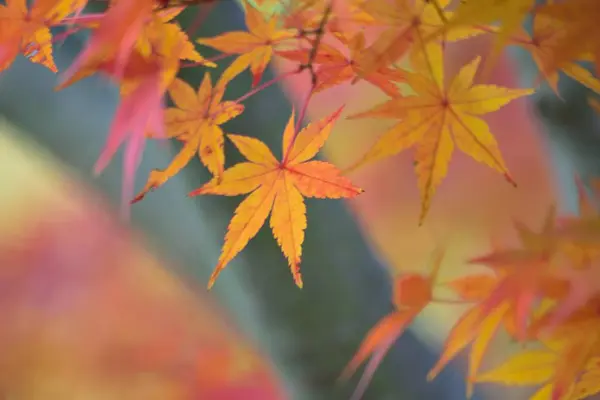
<svg viewBox="0 0 600 400">
<path fill-rule="evenodd" d="M 100 74 L 120 88 L 121 100 L 99 155 L 100 173 L 121 146 L 124 151 L 123 212 L 159 189 L 198 156 L 212 179 L 191 196 L 247 195 L 237 207 L 221 256 L 209 281 L 241 252 L 269 218 L 293 279 L 302 287 L 301 259 L 307 226 L 304 198 L 353 198 L 363 192 L 344 176 L 409 148 L 421 195 L 420 222 L 427 217 L 436 189 L 448 174 L 455 150 L 497 171 L 517 186 L 499 149 L 502 132 L 492 132 L 486 115 L 536 88 L 506 88 L 489 83 L 495 61 L 509 46 L 527 50 L 545 81 L 560 96 L 558 79 L 566 74 L 600 93 L 600 2 L 597 0 L 245 0 L 246 30 L 216 37 L 191 37 L 176 17 L 185 8 L 210 12 L 213 1 L 111 0 L 102 13 L 83 13 L 92 0 L 8 0 L 0 7 L 0 69 L 23 54 L 58 74 L 57 90 Z M 523 28 L 532 18 L 532 27 Z M 53 29 L 65 33 L 53 36 Z M 79 30 L 91 31 L 86 47 L 65 71 L 53 61 L 53 43 Z M 474 37 L 493 39 L 486 57 L 475 57 L 453 75 L 446 73 L 450 46 Z M 196 46 L 195 43 L 201 45 Z M 222 53 L 202 56 L 210 47 Z M 225 61 L 227 58 L 232 61 Z M 263 73 L 273 58 L 295 68 L 270 81 Z M 482 61 L 483 60 L 483 61 Z M 586 69 L 582 62 L 593 65 Z M 226 63 L 217 76 L 212 71 Z M 177 78 L 183 67 L 203 69 L 198 88 Z M 246 72 L 248 71 L 248 72 Z M 227 99 L 228 85 L 250 73 L 252 87 Z M 224 131 L 224 124 L 244 113 L 244 101 L 296 74 L 312 86 L 297 112 L 281 127 L 278 154 L 257 138 Z M 354 115 L 343 104 L 306 126 L 308 102 L 343 83 L 367 82 L 389 99 Z M 173 106 L 167 107 L 170 98 Z M 598 100 L 590 105 L 600 110 Z M 313 159 L 340 118 L 385 118 L 396 123 L 352 165 L 340 169 Z M 497 140 L 497 138 L 500 138 Z M 181 142 L 164 170 L 154 170 L 134 196 L 133 177 L 146 140 Z M 225 140 L 246 159 L 227 167 Z M 483 166 L 482 166 L 483 168 Z M 589 184 L 589 182 L 586 182 Z M 589 186 L 589 185 L 588 185 Z M 516 223 L 520 245 L 495 244 L 489 254 L 468 263 L 481 272 L 438 282 L 443 265 L 435 253 L 429 275 L 406 274 L 395 280 L 396 311 L 366 334 L 343 376 L 370 358 L 355 397 L 359 398 L 386 351 L 412 320 L 432 302 L 468 304 L 451 330 L 435 378 L 469 348 L 467 397 L 475 384 L 534 385 L 532 399 L 584 399 L 600 392 L 600 216 L 596 192 L 581 185 L 581 213 L 557 216 L 548 211 L 541 228 Z M 518 188 L 515 188 L 518 190 Z M 202 200 L 198 200 L 202 201 Z M 316 223 L 326 223 L 317 221 Z M 310 284 L 308 282 L 307 284 Z M 438 295 L 439 290 L 451 298 Z M 524 346 L 505 364 L 481 371 L 497 332 Z"/>
</svg>

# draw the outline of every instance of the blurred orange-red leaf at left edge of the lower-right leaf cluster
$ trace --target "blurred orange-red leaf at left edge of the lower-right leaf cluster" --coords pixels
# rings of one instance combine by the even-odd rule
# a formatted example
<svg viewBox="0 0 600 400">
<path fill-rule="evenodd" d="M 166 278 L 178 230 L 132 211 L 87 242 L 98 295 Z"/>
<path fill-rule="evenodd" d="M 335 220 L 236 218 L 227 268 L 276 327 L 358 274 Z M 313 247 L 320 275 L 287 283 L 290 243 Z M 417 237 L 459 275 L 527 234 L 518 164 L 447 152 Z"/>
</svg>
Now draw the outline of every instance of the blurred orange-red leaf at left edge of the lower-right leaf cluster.
<svg viewBox="0 0 600 400">
<path fill-rule="evenodd" d="M 527 263 L 528 260 L 535 260 L 536 255 L 541 257 L 541 254 L 551 254 L 554 242 L 550 233 L 553 227 L 552 207 L 540 232 L 533 232 L 517 223 L 523 250 L 495 249 L 490 256 L 483 258 L 492 267 L 493 275 L 467 275 L 446 283 L 461 299 L 476 304 L 453 326 L 439 360 L 427 375 L 428 380 L 434 379 L 459 352 L 471 344 L 467 377 L 467 397 L 470 398 L 473 394 L 473 379 L 497 330 L 502 326 L 512 337 L 530 337 L 527 335 L 525 322 L 532 307 L 531 299 L 535 296 L 527 291 L 527 285 L 531 285 L 533 293 L 540 297 L 559 299 L 564 296 L 567 290 L 565 282 L 551 275 L 542 275 L 536 281 L 537 286 L 530 280 L 525 280 L 525 288 L 517 287 L 520 280 L 526 277 L 522 270 L 531 271 L 533 268 Z"/>
</svg>

